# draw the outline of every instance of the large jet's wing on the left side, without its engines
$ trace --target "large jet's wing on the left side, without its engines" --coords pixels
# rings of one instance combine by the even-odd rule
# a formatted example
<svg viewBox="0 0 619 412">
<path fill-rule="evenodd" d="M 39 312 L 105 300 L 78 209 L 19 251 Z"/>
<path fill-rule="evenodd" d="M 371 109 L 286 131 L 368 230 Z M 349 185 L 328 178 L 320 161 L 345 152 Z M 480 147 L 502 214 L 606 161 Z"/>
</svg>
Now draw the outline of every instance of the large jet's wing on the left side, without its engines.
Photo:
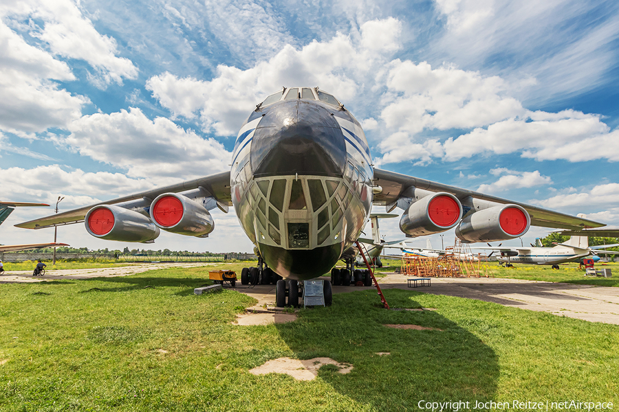
<svg viewBox="0 0 619 412">
<path fill-rule="evenodd" d="M 43 229 L 44 227 L 70 225 L 72 223 L 82 222 L 88 211 L 96 205 L 116 205 L 118 203 L 142 200 L 145 201 L 144 204 L 148 203 L 148 205 L 150 205 L 149 201 L 152 202 L 160 194 L 186 192 L 187 190 L 194 190 L 200 187 L 204 188 L 204 190 L 214 196 L 215 199 L 217 199 L 217 204 L 219 207 L 223 207 L 226 211 L 228 210 L 227 207 L 232 205 L 232 195 L 230 194 L 230 172 L 221 172 L 218 174 L 211 174 L 210 176 L 201 177 L 193 181 L 184 181 L 175 185 L 158 187 L 157 189 L 147 190 L 146 192 L 131 194 L 129 196 L 123 196 L 110 201 L 95 203 L 94 205 L 80 207 L 79 209 L 65 211 L 52 216 L 30 220 L 28 222 L 19 223 L 19 225 L 15 226 L 24 229 Z"/>
</svg>

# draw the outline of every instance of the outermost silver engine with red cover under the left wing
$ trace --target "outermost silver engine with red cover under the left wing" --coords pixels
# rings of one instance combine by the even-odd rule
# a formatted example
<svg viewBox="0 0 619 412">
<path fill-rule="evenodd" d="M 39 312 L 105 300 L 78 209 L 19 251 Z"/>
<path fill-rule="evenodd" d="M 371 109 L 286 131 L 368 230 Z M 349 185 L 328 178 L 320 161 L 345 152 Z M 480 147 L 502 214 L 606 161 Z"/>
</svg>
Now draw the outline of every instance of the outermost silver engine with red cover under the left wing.
<svg viewBox="0 0 619 412">
<path fill-rule="evenodd" d="M 115 205 L 99 205 L 88 211 L 86 230 L 95 238 L 120 242 L 152 242 L 160 230 L 137 211 Z"/>
</svg>

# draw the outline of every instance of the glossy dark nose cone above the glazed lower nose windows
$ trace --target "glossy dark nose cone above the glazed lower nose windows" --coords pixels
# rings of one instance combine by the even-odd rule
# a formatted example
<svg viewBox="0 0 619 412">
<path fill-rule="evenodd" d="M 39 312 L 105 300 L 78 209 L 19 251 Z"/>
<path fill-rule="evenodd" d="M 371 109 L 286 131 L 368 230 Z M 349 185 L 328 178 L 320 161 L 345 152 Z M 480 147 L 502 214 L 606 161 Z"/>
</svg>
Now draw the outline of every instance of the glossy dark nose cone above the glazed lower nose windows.
<svg viewBox="0 0 619 412">
<path fill-rule="evenodd" d="M 343 176 L 346 144 L 334 117 L 323 105 L 303 100 L 279 102 L 265 110 L 252 141 L 254 177 Z"/>
</svg>

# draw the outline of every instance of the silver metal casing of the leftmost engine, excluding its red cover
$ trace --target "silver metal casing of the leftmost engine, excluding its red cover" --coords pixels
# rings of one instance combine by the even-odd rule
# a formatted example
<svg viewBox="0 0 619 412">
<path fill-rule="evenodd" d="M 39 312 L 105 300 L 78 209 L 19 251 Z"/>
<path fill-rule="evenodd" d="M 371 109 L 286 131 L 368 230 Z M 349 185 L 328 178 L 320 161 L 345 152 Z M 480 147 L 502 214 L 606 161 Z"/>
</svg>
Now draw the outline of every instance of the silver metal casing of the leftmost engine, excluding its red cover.
<svg viewBox="0 0 619 412">
<path fill-rule="evenodd" d="M 97 234 L 89 227 L 89 218 L 98 209 L 107 209 L 113 215 L 113 227 L 107 233 Z M 88 233 L 96 238 L 106 240 L 148 243 L 153 242 L 160 234 L 159 228 L 143 214 L 116 205 L 93 207 L 86 214 L 84 223 Z"/>
</svg>

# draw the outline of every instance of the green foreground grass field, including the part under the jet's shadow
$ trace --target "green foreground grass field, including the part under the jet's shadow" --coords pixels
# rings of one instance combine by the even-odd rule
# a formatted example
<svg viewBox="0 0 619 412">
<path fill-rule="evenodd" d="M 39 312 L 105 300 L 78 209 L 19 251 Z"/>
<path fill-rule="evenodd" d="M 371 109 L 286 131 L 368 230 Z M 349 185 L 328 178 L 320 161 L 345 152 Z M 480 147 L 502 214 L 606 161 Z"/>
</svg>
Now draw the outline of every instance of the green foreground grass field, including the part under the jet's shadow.
<svg viewBox="0 0 619 412">
<path fill-rule="evenodd" d="M 228 265 L 226 265 L 228 266 Z M 619 404 L 619 327 L 387 290 L 334 296 L 283 325 L 239 326 L 241 293 L 196 296 L 208 268 L 0 284 L 0 411 L 410 411 L 420 400 Z M 439 330 L 396 330 L 416 324 Z M 390 352 L 378 356 L 376 352 Z M 254 376 L 290 356 L 354 365 Z"/>
</svg>

